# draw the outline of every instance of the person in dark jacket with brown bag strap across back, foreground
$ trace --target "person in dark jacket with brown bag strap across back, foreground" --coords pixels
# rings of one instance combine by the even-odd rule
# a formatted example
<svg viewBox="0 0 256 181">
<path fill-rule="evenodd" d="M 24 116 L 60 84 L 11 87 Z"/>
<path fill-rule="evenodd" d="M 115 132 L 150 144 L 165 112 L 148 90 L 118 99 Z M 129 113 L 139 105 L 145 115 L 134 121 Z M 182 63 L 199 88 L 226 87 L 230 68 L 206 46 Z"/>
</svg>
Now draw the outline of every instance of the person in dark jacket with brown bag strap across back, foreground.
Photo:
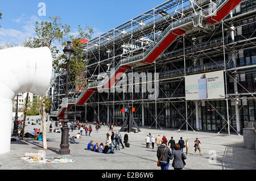
<svg viewBox="0 0 256 181">
<path fill-rule="evenodd" d="M 158 151 L 156 153 L 158 161 L 160 161 L 161 170 L 169 169 L 171 155 L 171 150 L 167 147 L 167 142 L 163 141 L 162 144 L 158 146 Z"/>
</svg>

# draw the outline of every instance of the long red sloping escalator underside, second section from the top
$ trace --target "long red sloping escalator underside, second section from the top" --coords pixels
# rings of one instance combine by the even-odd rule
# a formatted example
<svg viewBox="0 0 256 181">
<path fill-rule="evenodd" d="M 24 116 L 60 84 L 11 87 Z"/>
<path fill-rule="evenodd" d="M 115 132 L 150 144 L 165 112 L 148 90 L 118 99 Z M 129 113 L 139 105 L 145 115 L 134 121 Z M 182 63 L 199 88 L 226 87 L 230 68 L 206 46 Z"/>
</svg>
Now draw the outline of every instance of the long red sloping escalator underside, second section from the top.
<svg viewBox="0 0 256 181">
<path fill-rule="evenodd" d="M 181 29 L 177 29 L 173 32 L 171 32 L 166 39 L 164 39 L 162 41 L 162 43 L 159 44 L 158 47 L 156 47 L 156 49 L 144 60 L 142 61 L 142 63 L 144 64 L 148 64 L 148 63 L 152 63 L 156 60 L 156 58 L 158 58 L 158 56 L 164 52 L 164 50 L 166 50 L 170 44 L 176 39 L 177 36 L 179 35 L 183 35 L 185 33 L 184 30 Z"/>
</svg>

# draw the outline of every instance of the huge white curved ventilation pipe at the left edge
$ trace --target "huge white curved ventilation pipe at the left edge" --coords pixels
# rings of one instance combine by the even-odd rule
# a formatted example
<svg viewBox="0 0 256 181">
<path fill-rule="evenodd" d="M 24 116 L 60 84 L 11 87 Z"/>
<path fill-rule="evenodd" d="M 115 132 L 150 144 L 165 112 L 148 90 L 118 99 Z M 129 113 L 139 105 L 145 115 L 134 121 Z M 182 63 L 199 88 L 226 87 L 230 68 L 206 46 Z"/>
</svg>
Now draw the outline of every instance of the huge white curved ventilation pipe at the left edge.
<svg viewBox="0 0 256 181">
<path fill-rule="evenodd" d="M 13 100 L 20 92 L 46 94 L 52 74 L 51 50 L 14 47 L 0 50 L 0 154 L 10 151 Z"/>
</svg>

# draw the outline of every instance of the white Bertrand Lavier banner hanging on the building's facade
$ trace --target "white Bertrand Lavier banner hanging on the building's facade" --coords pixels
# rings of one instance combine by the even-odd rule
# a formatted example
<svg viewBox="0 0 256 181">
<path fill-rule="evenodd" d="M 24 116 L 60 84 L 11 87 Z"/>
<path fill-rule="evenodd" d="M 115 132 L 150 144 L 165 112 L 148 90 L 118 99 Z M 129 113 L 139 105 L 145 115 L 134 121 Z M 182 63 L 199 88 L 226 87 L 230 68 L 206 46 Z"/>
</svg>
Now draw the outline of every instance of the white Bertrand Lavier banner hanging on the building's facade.
<svg viewBox="0 0 256 181">
<path fill-rule="evenodd" d="M 224 71 L 185 77 L 186 100 L 224 99 Z"/>
</svg>

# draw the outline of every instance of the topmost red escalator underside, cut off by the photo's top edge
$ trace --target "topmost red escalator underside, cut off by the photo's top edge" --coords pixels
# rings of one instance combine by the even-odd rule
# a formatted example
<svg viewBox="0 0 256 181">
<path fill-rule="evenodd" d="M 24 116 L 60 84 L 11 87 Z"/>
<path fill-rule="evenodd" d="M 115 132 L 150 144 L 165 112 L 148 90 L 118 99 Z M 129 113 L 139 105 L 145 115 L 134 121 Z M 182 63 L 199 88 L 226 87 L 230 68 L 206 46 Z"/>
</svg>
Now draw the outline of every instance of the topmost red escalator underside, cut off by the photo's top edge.
<svg viewBox="0 0 256 181">
<path fill-rule="evenodd" d="M 207 18 L 207 21 L 214 24 L 217 22 L 220 22 L 226 15 L 229 14 L 230 11 L 232 11 L 242 0 L 229 0 L 224 6 L 221 7 L 220 10 L 216 12 L 215 15 L 212 16 L 212 18 Z M 214 19 L 214 20 L 212 20 Z"/>
</svg>

